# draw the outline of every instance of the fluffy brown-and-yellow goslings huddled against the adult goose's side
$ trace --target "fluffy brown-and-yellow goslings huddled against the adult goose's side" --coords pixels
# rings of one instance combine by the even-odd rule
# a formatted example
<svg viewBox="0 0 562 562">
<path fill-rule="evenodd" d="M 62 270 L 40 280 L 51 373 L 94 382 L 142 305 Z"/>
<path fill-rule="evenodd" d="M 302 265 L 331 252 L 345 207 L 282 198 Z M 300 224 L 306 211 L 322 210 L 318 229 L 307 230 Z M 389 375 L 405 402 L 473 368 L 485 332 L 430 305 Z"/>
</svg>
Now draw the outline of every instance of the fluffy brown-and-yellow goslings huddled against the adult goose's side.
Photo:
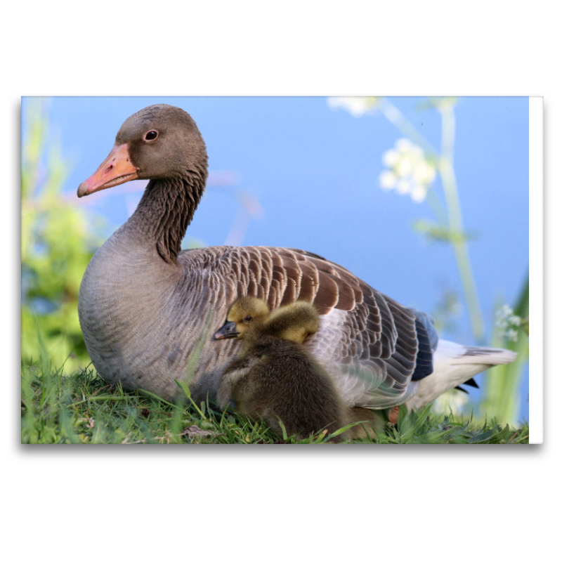
<svg viewBox="0 0 562 562">
<path fill-rule="evenodd" d="M 295 301 L 270 313 L 263 299 L 237 299 L 214 335 L 243 340 L 221 374 L 219 405 L 263 419 L 281 437 L 279 420 L 289 436 L 301 439 L 344 426 L 344 404 L 332 377 L 302 345 L 319 326 L 311 303 Z"/>
</svg>

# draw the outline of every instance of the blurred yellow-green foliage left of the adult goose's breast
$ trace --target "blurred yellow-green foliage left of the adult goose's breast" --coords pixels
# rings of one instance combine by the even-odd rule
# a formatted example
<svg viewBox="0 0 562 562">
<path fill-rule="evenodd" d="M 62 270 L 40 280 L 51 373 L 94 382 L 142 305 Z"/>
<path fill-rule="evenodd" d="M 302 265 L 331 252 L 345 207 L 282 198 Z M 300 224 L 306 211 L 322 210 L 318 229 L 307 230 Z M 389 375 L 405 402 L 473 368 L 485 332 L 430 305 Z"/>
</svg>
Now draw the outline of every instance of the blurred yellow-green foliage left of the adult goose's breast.
<svg viewBox="0 0 562 562">
<path fill-rule="evenodd" d="M 91 219 L 62 192 L 68 164 L 48 118 L 48 100 L 22 110 L 22 362 L 65 371 L 89 362 L 78 320 L 82 275 L 100 240 Z"/>
</svg>

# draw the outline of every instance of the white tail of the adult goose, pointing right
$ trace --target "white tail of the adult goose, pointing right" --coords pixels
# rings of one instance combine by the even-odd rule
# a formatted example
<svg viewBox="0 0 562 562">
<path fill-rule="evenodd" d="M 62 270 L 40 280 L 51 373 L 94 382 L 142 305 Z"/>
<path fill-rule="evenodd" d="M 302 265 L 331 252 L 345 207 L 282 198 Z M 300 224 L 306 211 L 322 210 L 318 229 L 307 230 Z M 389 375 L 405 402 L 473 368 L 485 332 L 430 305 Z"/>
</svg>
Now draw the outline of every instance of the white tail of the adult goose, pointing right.
<svg viewBox="0 0 562 562">
<path fill-rule="evenodd" d="M 433 353 L 433 372 L 424 379 L 412 382 L 417 386 L 417 391 L 406 405 L 417 410 L 451 388 L 466 384 L 475 374 L 494 365 L 507 365 L 516 358 L 517 353 L 508 349 L 462 346 L 440 339 Z"/>
</svg>

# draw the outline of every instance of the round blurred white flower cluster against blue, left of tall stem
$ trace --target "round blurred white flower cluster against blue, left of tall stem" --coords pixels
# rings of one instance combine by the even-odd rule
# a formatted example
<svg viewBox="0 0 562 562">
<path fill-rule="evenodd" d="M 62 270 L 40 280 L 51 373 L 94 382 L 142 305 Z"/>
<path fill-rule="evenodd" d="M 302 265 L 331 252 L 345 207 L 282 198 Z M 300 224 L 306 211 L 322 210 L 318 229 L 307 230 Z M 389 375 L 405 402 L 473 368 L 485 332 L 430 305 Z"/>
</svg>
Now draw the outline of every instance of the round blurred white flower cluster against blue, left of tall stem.
<svg viewBox="0 0 562 562">
<path fill-rule="evenodd" d="M 421 203 L 427 190 L 436 178 L 436 169 L 421 147 L 407 138 L 399 138 L 391 150 L 382 156 L 386 170 L 381 172 L 381 189 L 396 189 L 400 195 L 410 195 L 416 203 Z"/>
</svg>

